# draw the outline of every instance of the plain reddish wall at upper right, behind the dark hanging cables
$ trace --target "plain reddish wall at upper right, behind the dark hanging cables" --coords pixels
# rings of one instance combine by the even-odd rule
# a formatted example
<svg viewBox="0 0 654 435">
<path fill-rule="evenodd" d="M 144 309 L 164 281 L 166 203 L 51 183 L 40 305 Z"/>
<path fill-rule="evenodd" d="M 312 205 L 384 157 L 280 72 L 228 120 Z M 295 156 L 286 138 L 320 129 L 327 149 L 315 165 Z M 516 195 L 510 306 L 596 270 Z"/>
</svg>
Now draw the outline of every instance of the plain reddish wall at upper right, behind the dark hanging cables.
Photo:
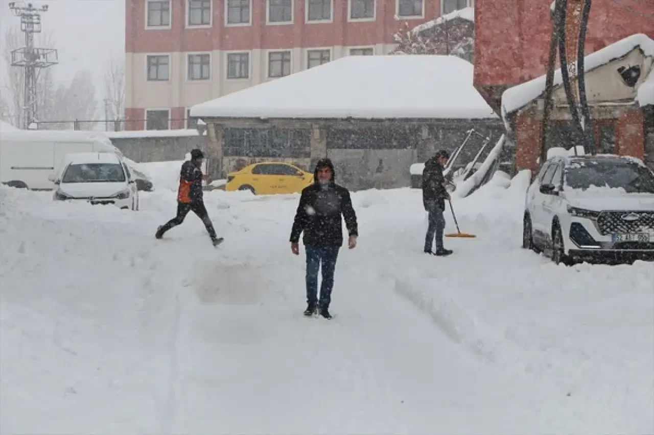
<svg viewBox="0 0 654 435">
<path fill-rule="evenodd" d="M 545 74 L 550 0 L 475 1 L 477 86 L 519 84 Z M 654 0 L 594 0 L 586 53 L 634 33 L 654 38 Z"/>
</svg>

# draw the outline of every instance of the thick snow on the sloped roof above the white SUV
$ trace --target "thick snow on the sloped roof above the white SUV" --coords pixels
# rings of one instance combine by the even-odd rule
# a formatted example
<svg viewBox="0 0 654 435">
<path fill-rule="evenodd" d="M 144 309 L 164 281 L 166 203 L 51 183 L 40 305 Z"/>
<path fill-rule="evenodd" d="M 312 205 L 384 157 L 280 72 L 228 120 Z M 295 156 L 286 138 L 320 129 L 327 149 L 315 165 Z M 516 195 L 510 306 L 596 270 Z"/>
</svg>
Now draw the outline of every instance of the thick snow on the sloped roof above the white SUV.
<svg viewBox="0 0 654 435">
<path fill-rule="evenodd" d="M 588 72 L 601 65 L 606 65 L 606 63 L 609 63 L 613 59 L 625 56 L 636 47 L 640 47 L 645 53 L 645 56 L 654 56 L 654 40 L 651 40 L 643 33 L 637 33 L 584 57 L 584 71 Z M 545 92 L 545 79 L 546 76 L 543 75 L 504 91 L 502 94 L 502 114 L 504 116 L 511 114 L 542 95 Z M 557 69 L 554 73 L 554 86 L 560 85 L 562 82 L 561 71 Z M 643 91 L 643 94 L 646 91 L 647 89 Z M 647 100 L 647 97 L 648 95 L 644 95 L 643 98 Z M 641 95 L 639 92 L 638 99 L 640 100 L 640 98 Z M 651 99 L 654 99 L 654 97 L 651 97 Z M 640 104 L 643 105 L 642 101 Z"/>
</svg>

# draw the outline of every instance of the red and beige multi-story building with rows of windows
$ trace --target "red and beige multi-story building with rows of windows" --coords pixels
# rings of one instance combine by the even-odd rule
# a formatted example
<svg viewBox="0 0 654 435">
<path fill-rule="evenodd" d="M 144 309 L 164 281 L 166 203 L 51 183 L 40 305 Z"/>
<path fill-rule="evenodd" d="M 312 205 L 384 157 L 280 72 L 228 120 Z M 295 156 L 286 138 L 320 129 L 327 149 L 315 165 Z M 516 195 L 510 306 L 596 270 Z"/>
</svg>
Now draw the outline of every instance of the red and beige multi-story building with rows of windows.
<svg viewBox="0 0 654 435">
<path fill-rule="evenodd" d="M 338 57 L 388 54 L 402 22 L 473 3 L 127 0 L 126 129 L 192 128 L 193 105 Z"/>
</svg>

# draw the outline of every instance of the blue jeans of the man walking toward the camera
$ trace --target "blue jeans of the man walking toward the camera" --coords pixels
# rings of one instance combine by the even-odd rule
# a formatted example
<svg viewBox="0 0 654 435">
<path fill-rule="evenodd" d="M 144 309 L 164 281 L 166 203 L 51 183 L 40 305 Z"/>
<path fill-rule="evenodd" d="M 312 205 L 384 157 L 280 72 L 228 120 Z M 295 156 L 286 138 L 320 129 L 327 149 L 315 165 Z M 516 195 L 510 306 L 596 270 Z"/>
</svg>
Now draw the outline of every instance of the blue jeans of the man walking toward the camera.
<svg viewBox="0 0 654 435">
<path fill-rule="evenodd" d="M 329 308 L 334 287 L 334 270 L 340 246 L 305 246 L 307 251 L 307 304 Z M 322 266 L 320 302 L 318 303 L 318 269 Z"/>
</svg>

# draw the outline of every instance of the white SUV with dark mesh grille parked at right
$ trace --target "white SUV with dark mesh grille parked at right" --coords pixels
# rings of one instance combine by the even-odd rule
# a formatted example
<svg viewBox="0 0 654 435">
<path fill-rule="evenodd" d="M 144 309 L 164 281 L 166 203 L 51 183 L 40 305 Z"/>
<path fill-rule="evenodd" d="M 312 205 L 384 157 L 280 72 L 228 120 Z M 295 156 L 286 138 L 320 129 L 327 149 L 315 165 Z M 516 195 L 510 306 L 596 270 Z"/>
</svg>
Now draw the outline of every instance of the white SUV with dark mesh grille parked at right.
<svg viewBox="0 0 654 435">
<path fill-rule="evenodd" d="M 557 264 L 654 259 L 654 173 L 633 157 L 551 157 L 526 193 L 523 248 Z"/>
</svg>

